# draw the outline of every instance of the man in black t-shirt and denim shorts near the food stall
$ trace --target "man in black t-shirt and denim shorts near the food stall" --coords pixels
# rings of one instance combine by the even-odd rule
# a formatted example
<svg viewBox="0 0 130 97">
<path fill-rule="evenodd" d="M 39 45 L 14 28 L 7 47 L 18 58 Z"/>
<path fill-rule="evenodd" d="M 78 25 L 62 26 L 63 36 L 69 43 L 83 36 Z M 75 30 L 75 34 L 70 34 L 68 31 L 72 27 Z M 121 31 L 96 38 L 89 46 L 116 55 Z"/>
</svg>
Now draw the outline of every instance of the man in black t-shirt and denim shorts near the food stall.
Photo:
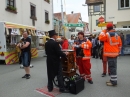
<svg viewBox="0 0 130 97">
<path fill-rule="evenodd" d="M 23 32 L 23 38 L 21 39 L 23 42 L 22 45 L 20 43 L 17 45 L 21 49 L 22 56 L 22 64 L 25 69 L 25 75 L 22 78 L 29 79 L 30 76 L 30 61 L 31 61 L 31 39 L 28 37 L 28 33 L 26 31 Z"/>
</svg>

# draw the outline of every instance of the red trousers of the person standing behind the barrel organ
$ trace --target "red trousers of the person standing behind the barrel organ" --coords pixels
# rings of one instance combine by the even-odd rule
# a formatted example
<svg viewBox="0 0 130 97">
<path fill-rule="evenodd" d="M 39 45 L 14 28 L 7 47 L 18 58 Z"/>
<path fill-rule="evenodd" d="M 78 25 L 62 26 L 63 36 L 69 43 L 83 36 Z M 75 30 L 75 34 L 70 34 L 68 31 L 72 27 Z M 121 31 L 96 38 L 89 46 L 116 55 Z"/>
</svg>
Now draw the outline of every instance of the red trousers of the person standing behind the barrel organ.
<svg viewBox="0 0 130 97">
<path fill-rule="evenodd" d="M 80 75 L 84 76 L 88 81 L 92 80 L 90 59 L 82 60 L 82 58 L 76 58 L 76 64 L 79 67 Z"/>
</svg>

